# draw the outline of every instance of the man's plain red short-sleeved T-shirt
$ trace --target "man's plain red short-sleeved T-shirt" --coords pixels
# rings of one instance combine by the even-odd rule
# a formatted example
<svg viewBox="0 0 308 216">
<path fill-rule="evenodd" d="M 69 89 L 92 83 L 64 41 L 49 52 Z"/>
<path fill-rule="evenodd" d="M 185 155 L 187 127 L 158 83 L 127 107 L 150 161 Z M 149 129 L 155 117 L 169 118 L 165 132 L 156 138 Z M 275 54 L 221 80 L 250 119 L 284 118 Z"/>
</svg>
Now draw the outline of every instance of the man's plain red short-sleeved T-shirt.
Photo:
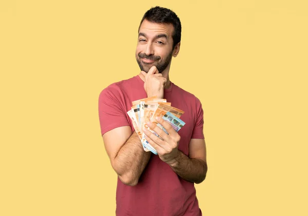
<svg viewBox="0 0 308 216">
<path fill-rule="evenodd" d="M 113 83 L 100 93 L 102 135 L 121 126 L 130 126 L 134 131 L 126 112 L 131 109 L 132 101 L 147 97 L 143 84 L 137 75 Z M 196 96 L 170 84 L 164 90 L 164 99 L 185 112 L 180 118 L 186 124 L 178 132 L 179 150 L 188 156 L 190 139 L 204 139 L 203 109 Z M 136 186 L 125 185 L 118 178 L 116 202 L 117 216 L 202 216 L 194 183 L 183 180 L 155 154 L 151 154 Z"/>
</svg>

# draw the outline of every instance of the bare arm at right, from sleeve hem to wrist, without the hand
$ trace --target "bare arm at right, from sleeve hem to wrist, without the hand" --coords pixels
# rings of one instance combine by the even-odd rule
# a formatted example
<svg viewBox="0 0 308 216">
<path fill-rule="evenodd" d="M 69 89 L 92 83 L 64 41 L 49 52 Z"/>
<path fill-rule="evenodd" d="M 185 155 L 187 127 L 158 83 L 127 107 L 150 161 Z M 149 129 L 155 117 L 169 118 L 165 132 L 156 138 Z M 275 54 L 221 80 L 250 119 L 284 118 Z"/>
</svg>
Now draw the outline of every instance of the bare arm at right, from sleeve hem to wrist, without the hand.
<svg viewBox="0 0 308 216">
<path fill-rule="evenodd" d="M 189 157 L 178 150 L 176 158 L 169 165 L 182 179 L 196 184 L 203 182 L 207 172 L 204 139 L 191 139 Z"/>
</svg>

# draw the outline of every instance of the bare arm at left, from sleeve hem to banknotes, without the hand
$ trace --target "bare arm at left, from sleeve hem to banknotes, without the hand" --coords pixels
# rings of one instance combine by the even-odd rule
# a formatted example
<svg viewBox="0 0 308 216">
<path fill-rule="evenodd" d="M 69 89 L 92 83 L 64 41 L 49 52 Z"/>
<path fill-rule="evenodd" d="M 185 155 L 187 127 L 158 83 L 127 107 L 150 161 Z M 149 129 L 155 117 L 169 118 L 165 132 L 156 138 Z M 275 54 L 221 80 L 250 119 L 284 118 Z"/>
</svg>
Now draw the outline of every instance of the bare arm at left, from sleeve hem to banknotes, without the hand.
<svg viewBox="0 0 308 216">
<path fill-rule="evenodd" d="M 137 133 L 129 126 L 118 127 L 103 134 L 111 166 L 126 185 L 137 185 L 151 152 L 145 152 Z"/>
</svg>

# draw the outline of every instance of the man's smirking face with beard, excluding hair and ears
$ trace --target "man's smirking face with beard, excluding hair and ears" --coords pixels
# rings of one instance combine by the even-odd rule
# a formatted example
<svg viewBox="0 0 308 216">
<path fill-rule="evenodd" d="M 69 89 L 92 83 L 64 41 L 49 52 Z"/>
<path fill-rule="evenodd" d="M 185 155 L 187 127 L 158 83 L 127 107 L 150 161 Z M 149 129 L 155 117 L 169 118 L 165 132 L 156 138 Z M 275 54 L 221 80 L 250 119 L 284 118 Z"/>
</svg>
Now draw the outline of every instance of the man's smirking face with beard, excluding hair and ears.
<svg viewBox="0 0 308 216">
<path fill-rule="evenodd" d="M 173 31 L 172 24 L 150 23 L 144 19 L 136 48 L 136 60 L 141 70 L 148 72 L 152 66 L 156 66 L 162 73 L 169 66 L 173 51 Z"/>
</svg>

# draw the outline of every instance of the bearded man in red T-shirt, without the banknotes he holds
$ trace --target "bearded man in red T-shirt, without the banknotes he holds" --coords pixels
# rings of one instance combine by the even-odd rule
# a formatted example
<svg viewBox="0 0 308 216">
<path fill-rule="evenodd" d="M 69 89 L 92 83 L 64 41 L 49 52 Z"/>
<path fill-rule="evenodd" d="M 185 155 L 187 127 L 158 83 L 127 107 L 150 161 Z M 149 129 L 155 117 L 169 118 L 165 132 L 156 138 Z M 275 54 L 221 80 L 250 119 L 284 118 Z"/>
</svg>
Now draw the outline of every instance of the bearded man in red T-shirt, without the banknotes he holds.
<svg viewBox="0 0 308 216">
<path fill-rule="evenodd" d="M 99 96 L 101 133 L 112 168 L 118 174 L 118 216 L 202 215 L 194 183 L 206 176 L 203 109 L 193 94 L 169 80 L 172 56 L 180 50 L 181 23 L 171 10 L 154 7 L 140 23 L 136 60 L 140 74 L 113 83 Z M 146 140 L 158 155 L 144 151 L 127 114 L 131 102 L 158 96 L 185 111 L 186 124 L 176 132 L 158 119 L 169 134 L 155 124 L 145 130 Z"/>
</svg>

